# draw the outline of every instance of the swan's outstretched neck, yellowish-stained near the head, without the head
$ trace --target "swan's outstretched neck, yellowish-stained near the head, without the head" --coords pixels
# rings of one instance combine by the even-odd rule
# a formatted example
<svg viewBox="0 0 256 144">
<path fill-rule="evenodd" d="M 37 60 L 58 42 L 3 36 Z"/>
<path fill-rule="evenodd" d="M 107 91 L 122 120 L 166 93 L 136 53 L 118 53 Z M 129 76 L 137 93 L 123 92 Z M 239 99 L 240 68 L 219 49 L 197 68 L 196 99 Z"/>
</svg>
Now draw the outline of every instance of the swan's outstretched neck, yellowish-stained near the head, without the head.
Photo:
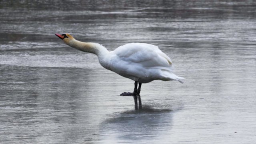
<svg viewBox="0 0 256 144">
<path fill-rule="evenodd" d="M 73 39 L 66 44 L 83 52 L 96 54 L 99 58 L 104 57 L 104 55 L 109 53 L 104 46 L 93 42 L 80 42 L 76 39 Z"/>
</svg>

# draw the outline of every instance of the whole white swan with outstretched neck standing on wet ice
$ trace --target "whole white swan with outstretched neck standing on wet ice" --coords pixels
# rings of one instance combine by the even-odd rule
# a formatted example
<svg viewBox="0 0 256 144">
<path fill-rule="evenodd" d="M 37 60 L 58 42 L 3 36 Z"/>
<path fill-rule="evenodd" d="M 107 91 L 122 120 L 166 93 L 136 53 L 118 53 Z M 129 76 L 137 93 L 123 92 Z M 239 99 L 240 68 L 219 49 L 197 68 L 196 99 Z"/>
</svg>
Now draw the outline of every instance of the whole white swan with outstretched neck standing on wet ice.
<svg viewBox="0 0 256 144">
<path fill-rule="evenodd" d="M 104 46 L 92 42 L 80 42 L 70 34 L 55 34 L 67 45 L 90 52 L 98 56 L 100 64 L 117 74 L 135 81 L 134 92 L 124 92 L 121 96 L 140 94 L 142 83 L 153 80 L 177 80 L 181 83 L 182 77 L 172 73 L 171 59 L 166 56 L 158 46 L 144 43 L 130 43 L 119 46 L 116 50 L 109 52 Z M 139 87 L 137 89 L 139 83 Z"/>
</svg>

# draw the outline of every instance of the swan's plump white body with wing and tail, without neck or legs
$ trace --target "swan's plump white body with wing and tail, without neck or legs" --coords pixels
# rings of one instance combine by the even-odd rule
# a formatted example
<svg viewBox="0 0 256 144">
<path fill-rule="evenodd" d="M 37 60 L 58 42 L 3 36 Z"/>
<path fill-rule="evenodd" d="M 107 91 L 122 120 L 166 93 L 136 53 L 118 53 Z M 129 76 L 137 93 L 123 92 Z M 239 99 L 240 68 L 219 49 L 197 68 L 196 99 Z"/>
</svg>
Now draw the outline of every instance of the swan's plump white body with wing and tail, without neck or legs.
<svg viewBox="0 0 256 144">
<path fill-rule="evenodd" d="M 178 80 L 172 73 L 172 61 L 157 46 L 144 43 L 130 43 L 108 52 L 100 64 L 117 74 L 140 83 L 153 80 Z"/>
</svg>

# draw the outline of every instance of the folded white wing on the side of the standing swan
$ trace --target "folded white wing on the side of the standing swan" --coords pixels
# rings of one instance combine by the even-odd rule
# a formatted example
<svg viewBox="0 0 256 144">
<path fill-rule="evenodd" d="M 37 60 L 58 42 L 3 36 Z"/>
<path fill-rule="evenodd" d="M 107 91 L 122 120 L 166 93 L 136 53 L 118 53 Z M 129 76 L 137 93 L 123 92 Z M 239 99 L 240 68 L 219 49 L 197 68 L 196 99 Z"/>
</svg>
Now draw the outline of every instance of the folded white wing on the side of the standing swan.
<svg viewBox="0 0 256 144">
<path fill-rule="evenodd" d="M 172 61 L 158 46 L 144 43 L 131 43 L 118 47 L 113 53 L 124 62 L 140 65 L 143 68 L 156 68 L 172 71 Z"/>
</svg>

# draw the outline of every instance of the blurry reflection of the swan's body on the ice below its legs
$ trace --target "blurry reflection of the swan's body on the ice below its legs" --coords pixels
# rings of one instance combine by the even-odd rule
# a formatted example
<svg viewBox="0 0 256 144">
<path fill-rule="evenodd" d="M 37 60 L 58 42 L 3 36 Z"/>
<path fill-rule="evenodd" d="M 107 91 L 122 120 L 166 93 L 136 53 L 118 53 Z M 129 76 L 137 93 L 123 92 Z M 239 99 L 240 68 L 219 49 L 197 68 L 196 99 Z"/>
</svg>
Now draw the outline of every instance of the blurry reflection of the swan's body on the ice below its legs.
<svg viewBox="0 0 256 144">
<path fill-rule="evenodd" d="M 102 142 L 128 142 L 152 140 L 172 126 L 172 110 L 156 109 L 144 105 L 140 110 L 128 110 L 112 114 L 102 122 Z"/>
</svg>

